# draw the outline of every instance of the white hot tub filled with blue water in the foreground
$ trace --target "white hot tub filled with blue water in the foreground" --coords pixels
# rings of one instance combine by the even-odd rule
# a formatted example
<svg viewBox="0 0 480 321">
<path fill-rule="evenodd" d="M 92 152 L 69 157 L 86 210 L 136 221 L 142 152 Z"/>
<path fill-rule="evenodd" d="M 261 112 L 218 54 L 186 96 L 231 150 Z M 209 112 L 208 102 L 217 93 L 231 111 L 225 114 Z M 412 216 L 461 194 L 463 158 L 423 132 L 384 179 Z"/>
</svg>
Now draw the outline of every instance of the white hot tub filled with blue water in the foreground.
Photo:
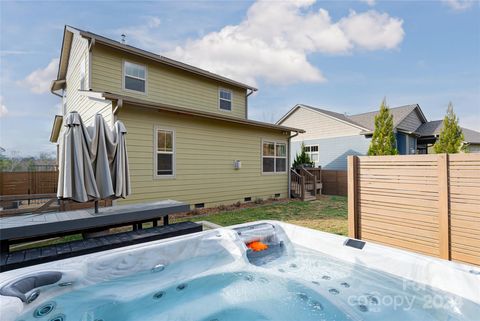
<svg viewBox="0 0 480 321">
<path fill-rule="evenodd" d="M 261 221 L 4 272 L 0 293 L 5 321 L 478 320 L 480 269 Z"/>
</svg>

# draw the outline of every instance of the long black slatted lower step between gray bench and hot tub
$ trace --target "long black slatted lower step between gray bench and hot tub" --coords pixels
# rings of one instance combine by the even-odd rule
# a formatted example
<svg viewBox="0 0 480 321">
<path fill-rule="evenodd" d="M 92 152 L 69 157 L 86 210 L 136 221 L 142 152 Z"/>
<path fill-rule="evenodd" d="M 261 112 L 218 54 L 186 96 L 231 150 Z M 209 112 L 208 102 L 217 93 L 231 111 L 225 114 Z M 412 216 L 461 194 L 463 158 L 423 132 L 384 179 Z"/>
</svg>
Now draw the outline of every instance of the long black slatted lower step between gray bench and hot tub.
<svg viewBox="0 0 480 321">
<path fill-rule="evenodd" d="M 180 222 L 45 247 L 2 253 L 0 256 L 0 271 L 9 271 L 35 264 L 52 262 L 200 231 L 202 231 L 202 225 L 200 224 L 194 222 Z"/>
</svg>

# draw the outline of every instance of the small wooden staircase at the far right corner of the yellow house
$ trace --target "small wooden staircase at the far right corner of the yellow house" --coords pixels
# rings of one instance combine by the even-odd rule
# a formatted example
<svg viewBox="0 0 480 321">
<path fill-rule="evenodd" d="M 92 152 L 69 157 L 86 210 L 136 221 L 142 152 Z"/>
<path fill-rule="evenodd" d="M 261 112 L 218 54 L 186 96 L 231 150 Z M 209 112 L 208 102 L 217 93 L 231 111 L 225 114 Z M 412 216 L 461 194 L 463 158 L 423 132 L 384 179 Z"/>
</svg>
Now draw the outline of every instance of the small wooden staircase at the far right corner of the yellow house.
<svg viewBox="0 0 480 321">
<path fill-rule="evenodd" d="M 321 168 L 300 167 L 290 170 L 290 191 L 292 198 L 302 201 L 312 201 L 317 195 L 322 194 L 322 171 Z"/>
</svg>

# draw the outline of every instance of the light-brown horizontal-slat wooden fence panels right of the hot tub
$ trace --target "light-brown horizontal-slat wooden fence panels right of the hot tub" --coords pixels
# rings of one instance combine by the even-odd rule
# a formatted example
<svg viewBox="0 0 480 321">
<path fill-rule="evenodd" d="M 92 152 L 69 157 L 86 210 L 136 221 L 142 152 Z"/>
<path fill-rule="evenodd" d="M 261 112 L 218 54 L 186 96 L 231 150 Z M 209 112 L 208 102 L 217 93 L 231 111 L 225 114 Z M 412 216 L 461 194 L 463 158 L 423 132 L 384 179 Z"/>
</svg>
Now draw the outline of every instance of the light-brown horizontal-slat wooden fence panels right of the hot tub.
<svg viewBox="0 0 480 321">
<path fill-rule="evenodd" d="M 348 231 L 480 265 L 480 154 L 349 156 Z"/>
</svg>

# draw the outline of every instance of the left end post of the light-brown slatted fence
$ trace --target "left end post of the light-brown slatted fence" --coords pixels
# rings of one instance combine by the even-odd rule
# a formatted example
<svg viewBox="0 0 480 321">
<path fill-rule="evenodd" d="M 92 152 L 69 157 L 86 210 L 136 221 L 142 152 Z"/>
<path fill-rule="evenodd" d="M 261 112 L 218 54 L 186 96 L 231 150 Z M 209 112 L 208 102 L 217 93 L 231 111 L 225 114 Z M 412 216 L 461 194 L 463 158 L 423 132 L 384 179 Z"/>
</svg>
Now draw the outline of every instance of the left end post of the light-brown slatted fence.
<svg viewBox="0 0 480 321">
<path fill-rule="evenodd" d="M 358 156 L 348 156 L 348 236 L 359 238 L 357 208 Z"/>
</svg>

